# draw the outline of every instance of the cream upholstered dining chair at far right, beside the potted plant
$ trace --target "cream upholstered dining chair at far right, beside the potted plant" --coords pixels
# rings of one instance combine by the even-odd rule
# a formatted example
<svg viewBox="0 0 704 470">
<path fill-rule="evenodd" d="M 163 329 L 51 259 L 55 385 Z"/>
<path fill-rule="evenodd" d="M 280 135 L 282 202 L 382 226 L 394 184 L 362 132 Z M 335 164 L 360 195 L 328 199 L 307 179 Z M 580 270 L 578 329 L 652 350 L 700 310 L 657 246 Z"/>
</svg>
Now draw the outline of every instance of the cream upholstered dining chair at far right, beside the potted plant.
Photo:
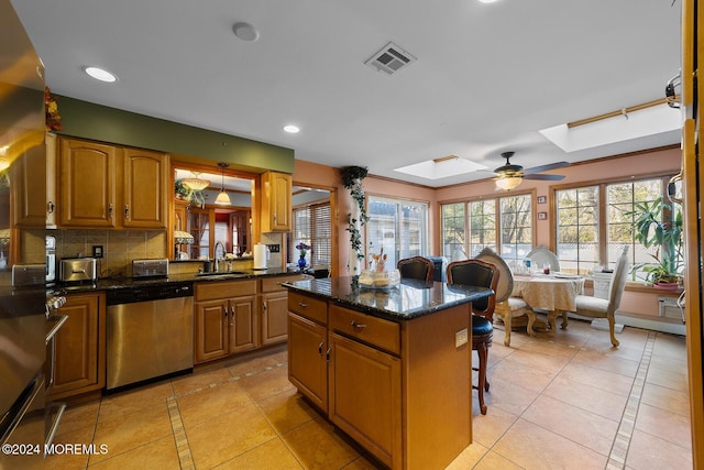
<svg viewBox="0 0 704 470">
<path fill-rule="evenodd" d="M 615 313 L 620 305 L 620 298 L 626 286 L 628 275 L 628 247 L 624 247 L 624 251 L 616 261 L 614 276 L 608 286 L 608 298 L 593 297 L 591 295 L 578 295 L 575 298 L 576 314 L 590 318 L 608 319 L 608 332 L 612 336 L 612 345 L 618 348 L 618 340 L 614 335 L 614 326 L 616 324 Z"/>
</svg>

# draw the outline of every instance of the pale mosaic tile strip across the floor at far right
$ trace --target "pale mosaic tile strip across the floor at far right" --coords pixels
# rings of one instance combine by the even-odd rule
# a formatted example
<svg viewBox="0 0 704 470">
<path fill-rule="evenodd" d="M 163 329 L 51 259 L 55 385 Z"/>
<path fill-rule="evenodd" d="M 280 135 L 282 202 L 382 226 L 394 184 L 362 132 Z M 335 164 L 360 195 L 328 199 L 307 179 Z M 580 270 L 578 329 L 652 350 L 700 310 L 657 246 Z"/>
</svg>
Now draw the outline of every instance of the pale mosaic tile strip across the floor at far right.
<svg viewBox="0 0 704 470">
<path fill-rule="evenodd" d="M 616 431 L 616 438 L 614 439 L 614 446 L 608 455 L 608 462 L 606 468 L 609 470 L 626 468 L 626 457 L 628 455 L 628 448 L 630 447 L 630 439 L 634 435 L 636 427 L 636 416 L 638 415 L 638 406 L 640 405 L 640 398 L 642 397 L 642 391 L 646 383 L 646 376 L 648 374 L 648 368 L 650 367 L 650 360 L 652 359 L 652 350 L 656 342 L 656 332 L 650 331 L 648 334 L 648 340 L 646 341 L 646 348 L 638 365 L 638 372 L 634 380 L 634 386 L 628 395 L 626 402 L 626 409 L 622 416 L 618 429 Z"/>
</svg>

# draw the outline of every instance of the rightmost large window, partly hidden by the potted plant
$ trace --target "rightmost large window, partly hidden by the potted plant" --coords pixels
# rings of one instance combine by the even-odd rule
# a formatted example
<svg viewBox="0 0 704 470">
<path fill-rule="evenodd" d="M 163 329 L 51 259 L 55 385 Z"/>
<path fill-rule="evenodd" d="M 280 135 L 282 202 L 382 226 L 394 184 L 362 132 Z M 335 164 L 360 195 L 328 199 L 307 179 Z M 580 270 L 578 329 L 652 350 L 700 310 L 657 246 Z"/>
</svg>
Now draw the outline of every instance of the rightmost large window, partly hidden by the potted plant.
<svg viewBox="0 0 704 470">
<path fill-rule="evenodd" d="M 629 262 L 651 262 L 654 249 L 637 242 L 632 211 L 639 203 L 666 197 L 670 176 L 613 182 L 554 192 L 557 254 L 562 271 L 586 274 L 613 267 L 624 245 Z M 644 278 L 641 273 L 636 278 Z"/>
</svg>

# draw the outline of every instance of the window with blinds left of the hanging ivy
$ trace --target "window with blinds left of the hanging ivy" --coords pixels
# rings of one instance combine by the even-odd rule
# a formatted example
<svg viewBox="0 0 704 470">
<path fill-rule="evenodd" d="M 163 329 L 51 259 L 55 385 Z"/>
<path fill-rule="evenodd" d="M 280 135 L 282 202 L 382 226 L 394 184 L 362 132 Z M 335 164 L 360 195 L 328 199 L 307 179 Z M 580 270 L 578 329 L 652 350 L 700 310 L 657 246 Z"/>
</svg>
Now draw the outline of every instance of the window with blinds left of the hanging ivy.
<svg viewBox="0 0 704 470">
<path fill-rule="evenodd" d="M 330 266 L 330 203 L 317 204 L 294 209 L 293 237 L 289 240 L 288 261 L 298 260 L 298 243 L 310 247 L 306 262 L 312 266 Z"/>
</svg>

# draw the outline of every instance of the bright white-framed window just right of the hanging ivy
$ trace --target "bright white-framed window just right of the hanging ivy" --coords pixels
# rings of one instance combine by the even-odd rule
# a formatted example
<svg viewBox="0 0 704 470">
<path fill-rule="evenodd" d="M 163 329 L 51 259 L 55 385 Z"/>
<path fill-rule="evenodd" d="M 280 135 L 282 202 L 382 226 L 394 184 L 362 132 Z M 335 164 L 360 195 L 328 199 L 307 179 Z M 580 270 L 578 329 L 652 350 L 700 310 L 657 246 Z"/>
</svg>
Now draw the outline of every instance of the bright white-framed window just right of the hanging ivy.
<svg viewBox="0 0 704 470">
<path fill-rule="evenodd" d="M 428 205 L 400 199 L 369 197 L 366 240 L 370 253 L 386 254 L 386 266 L 428 252 Z"/>
</svg>

